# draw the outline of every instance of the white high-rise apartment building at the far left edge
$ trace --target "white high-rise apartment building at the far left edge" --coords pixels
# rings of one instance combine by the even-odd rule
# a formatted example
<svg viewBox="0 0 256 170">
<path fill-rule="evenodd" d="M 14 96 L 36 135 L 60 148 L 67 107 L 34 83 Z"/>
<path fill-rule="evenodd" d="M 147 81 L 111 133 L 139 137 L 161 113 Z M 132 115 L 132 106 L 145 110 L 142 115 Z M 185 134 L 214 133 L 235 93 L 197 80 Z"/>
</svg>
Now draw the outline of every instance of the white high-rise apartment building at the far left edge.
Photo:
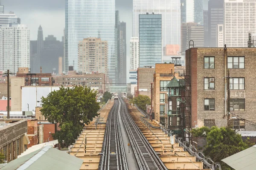
<svg viewBox="0 0 256 170">
<path fill-rule="evenodd" d="M 0 70 L 17 73 L 30 65 L 30 31 L 26 25 L 0 28 Z"/>
</svg>

